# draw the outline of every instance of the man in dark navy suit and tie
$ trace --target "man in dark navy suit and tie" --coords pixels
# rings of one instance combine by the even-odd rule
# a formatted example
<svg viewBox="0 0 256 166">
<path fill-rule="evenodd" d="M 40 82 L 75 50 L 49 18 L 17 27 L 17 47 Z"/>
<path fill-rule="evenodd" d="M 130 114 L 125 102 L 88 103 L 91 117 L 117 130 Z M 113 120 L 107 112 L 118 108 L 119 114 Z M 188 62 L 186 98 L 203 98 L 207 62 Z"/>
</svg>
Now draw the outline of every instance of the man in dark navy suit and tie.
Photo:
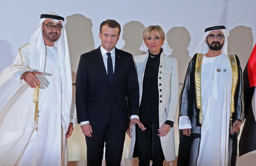
<svg viewBox="0 0 256 166">
<path fill-rule="evenodd" d="M 115 48 L 120 24 L 108 19 L 100 25 L 101 46 L 80 57 L 76 76 L 76 108 L 87 145 L 87 165 L 120 165 L 128 115 L 140 123 L 139 84 L 130 53 Z M 127 107 L 128 106 L 128 107 Z M 128 111 L 129 108 L 129 111 Z"/>
</svg>

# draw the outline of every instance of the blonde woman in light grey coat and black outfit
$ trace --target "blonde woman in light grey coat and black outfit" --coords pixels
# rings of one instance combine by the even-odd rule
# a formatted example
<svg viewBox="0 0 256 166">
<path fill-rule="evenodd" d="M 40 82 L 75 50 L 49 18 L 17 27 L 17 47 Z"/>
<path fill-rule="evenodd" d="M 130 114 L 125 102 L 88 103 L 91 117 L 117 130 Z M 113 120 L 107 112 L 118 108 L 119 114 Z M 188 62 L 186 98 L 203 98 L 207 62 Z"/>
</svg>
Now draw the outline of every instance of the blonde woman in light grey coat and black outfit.
<svg viewBox="0 0 256 166">
<path fill-rule="evenodd" d="M 139 119 L 145 131 L 136 129 L 135 151 L 139 165 L 161 166 L 164 159 L 175 160 L 173 124 L 178 105 L 178 65 L 166 56 L 161 46 L 165 34 L 159 25 L 150 25 L 143 32 L 148 52 L 135 57 L 139 80 Z M 131 130 L 127 130 L 130 135 Z M 132 140 L 133 142 L 133 140 Z M 132 149 L 133 150 L 133 149 Z"/>
</svg>

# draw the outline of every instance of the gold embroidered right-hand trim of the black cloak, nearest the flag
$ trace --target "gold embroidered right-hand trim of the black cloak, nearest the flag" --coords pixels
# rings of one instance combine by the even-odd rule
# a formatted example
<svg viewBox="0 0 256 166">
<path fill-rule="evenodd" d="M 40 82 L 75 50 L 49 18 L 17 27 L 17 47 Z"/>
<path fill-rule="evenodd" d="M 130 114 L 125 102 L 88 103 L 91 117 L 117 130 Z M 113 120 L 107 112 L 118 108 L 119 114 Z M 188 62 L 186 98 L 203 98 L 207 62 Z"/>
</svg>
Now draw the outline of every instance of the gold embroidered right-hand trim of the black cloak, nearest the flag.
<svg viewBox="0 0 256 166">
<path fill-rule="evenodd" d="M 231 64 L 231 70 L 232 70 L 232 86 L 231 86 L 231 105 L 230 105 L 230 126 L 232 130 L 232 114 L 235 112 L 235 90 L 236 90 L 236 85 L 238 82 L 238 65 L 236 62 L 235 55 L 230 55 L 229 56 L 230 64 Z"/>
</svg>

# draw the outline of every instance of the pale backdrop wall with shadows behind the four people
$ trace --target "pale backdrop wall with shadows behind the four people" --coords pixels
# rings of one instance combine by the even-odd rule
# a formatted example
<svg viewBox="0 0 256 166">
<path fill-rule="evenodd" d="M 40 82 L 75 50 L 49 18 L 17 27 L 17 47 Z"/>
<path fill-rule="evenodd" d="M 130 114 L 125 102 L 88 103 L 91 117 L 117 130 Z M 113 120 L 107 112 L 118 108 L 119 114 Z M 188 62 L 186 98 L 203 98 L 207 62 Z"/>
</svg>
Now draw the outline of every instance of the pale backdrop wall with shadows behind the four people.
<svg viewBox="0 0 256 166">
<path fill-rule="evenodd" d="M 134 56 L 146 51 L 142 40 L 144 28 L 160 25 L 166 34 L 165 54 L 178 60 L 179 82 L 183 82 L 190 56 L 204 29 L 212 24 L 227 27 L 228 52 L 238 55 L 244 68 L 256 42 L 255 6 L 255 0 L 1 0 L 0 72 L 12 63 L 18 48 L 29 42 L 40 15 L 49 11 L 65 18 L 73 81 L 80 55 L 100 46 L 99 26 L 106 19 L 121 24 L 117 48 Z M 177 120 L 174 128 L 177 154 Z M 128 158 L 128 152 L 127 137 L 123 158 Z M 69 160 L 86 160 L 80 125 L 69 138 Z"/>
</svg>

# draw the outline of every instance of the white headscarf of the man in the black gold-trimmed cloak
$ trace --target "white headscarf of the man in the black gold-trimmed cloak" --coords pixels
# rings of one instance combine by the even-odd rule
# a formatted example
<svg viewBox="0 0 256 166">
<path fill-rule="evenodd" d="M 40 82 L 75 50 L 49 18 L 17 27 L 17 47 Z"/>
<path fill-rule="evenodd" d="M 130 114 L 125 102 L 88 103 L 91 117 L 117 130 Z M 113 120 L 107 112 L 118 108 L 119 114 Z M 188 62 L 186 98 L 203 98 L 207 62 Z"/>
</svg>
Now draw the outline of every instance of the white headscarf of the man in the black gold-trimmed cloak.
<svg viewBox="0 0 256 166">
<path fill-rule="evenodd" d="M 214 26 L 218 26 L 216 24 L 214 25 L 211 25 L 210 27 L 214 27 Z M 217 30 L 220 30 L 223 35 L 224 35 L 224 44 L 223 44 L 223 47 L 222 47 L 222 53 L 228 55 L 228 36 L 227 36 L 227 33 L 226 33 L 226 30 L 225 29 L 217 29 Z M 196 53 L 202 53 L 202 54 L 206 54 L 207 52 L 209 52 L 209 46 L 207 45 L 206 43 L 206 37 L 209 35 L 210 32 L 212 32 L 213 30 L 211 31 L 207 31 L 204 33 L 202 39 L 200 40 L 199 42 L 199 45 L 197 47 L 197 49 L 194 51 L 192 57 L 196 54 Z"/>
</svg>

